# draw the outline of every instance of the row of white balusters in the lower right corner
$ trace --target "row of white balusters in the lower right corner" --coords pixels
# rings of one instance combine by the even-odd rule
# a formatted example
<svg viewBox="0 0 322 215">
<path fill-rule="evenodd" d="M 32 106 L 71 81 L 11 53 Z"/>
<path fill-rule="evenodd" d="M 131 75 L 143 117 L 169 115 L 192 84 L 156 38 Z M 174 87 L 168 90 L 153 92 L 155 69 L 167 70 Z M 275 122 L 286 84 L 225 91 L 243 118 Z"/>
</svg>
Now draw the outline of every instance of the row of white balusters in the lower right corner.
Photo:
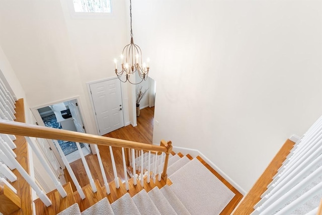
<svg viewBox="0 0 322 215">
<path fill-rule="evenodd" d="M 322 116 L 296 142 L 252 215 L 289 214 L 308 200 L 319 201 L 316 195 L 322 190 L 321 159 Z M 318 208 L 310 209 L 314 212 Z"/>
</svg>

